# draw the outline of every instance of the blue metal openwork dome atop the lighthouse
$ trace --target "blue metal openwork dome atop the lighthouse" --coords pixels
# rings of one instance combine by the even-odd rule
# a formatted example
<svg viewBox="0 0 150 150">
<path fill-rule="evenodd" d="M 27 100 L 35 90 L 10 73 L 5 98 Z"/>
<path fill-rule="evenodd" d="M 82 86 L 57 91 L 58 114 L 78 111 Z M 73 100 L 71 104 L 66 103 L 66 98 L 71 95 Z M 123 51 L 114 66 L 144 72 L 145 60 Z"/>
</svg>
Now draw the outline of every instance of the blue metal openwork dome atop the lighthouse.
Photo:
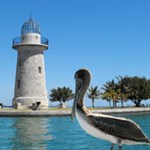
<svg viewBox="0 0 150 150">
<path fill-rule="evenodd" d="M 40 34 L 40 27 L 36 21 L 30 18 L 28 21 L 25 21 L 21 28 L 21 35 L 27 33 L 37 33 Z"/>
</svg>

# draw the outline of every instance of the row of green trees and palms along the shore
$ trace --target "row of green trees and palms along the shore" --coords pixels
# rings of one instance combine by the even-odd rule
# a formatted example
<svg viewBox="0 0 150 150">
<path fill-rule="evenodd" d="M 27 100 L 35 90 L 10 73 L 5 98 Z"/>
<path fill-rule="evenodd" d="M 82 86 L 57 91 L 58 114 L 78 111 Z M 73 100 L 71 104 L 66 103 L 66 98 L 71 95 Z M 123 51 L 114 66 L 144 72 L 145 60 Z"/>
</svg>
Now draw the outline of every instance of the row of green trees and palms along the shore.
<svg viewBox="0 0 150 150">
<path fill-rule="evenodd" d="M 95 107 L 95 99 L 106 100 L 109 103 L 109 107 L 117 107 L 118 103 L 121 103 L 121 107 L 124 107 L 124 103 L 129 100 L 136 107 L 140 107 L 143 100 L 150 99 L 150 79 L 138 76 L 117 76 L 115 79 L 107 81 L 101 88 L 91 86 L 86 96 L 92 100 L 92 107 Z M 49 95 L 49 100 L 52 102 L 65 103 L 73 98 L 73 91 L 65 86 L 51 89 Z"/>
</svg>

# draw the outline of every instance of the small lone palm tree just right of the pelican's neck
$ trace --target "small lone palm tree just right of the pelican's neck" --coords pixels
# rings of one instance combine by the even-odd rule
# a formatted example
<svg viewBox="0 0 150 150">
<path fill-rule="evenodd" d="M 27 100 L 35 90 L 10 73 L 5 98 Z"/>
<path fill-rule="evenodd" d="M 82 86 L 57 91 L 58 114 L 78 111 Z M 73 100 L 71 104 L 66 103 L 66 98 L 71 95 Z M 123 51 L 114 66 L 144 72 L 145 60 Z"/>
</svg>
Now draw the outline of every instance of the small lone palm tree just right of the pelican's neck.
<svg viewBox="0 0 150 150">
<path fill-rule="evenodd" d="M 98 89 L 98 86 L 95 87 L 90 87 L 88 89 L 88 93 L 87 93 L 87 97 L 90 98 L 92 100 L 92 107 L 94 108 L 94 100 L 95 99 L 99 99 L 101 95 L 100 90 Z"/>
</svg>

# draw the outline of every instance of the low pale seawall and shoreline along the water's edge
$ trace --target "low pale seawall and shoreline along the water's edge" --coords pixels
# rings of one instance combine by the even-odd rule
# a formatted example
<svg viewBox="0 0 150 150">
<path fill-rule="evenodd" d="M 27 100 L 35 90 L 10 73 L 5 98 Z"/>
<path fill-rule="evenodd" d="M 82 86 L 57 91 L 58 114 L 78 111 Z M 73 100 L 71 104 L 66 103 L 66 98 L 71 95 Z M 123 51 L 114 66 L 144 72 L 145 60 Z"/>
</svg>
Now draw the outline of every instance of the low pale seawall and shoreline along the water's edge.
<svg viewBox="0 0 150 150">
<path fill-rule="evenodd" d="M 102 109 L 89 109 L 92 113 L 102 113 L 108 115 L 115 114 L 137 114 L 137 113 L 150 113 L 150 107 L 132 107 L 132 108 L 102 108 Z M 71 109 L 49 109 L 49 110 L 16 110 L 16 109 L 1 109 L 0 117 L 64 117 L 70 116 Z"/>
</svg>

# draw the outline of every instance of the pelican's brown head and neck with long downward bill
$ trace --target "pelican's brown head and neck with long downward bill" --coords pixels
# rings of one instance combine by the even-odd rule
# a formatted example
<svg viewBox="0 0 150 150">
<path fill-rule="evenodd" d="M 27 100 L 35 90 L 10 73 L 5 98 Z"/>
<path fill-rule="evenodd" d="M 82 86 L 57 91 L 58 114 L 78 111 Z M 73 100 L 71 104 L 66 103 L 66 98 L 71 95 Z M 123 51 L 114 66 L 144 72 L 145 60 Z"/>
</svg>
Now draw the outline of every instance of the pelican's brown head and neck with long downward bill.
<svg viewBox="0 0 150 150">
<path fill-rule="evenodd" d="M 84 94 L 86 93 L 86 90 L 90 85 L 91 73 L 88 69 L 80 69 L 75 73 L 74 78 L 75 78 L 76 88 L 75 88 L 74 103 L 72 107 L 72 115 L 71 115 L 72 119 L 75 117 L 76 105 L 78 104 L 81 107 L 84 106 L 83 98 L 84 98 Z"/>
</svg>

